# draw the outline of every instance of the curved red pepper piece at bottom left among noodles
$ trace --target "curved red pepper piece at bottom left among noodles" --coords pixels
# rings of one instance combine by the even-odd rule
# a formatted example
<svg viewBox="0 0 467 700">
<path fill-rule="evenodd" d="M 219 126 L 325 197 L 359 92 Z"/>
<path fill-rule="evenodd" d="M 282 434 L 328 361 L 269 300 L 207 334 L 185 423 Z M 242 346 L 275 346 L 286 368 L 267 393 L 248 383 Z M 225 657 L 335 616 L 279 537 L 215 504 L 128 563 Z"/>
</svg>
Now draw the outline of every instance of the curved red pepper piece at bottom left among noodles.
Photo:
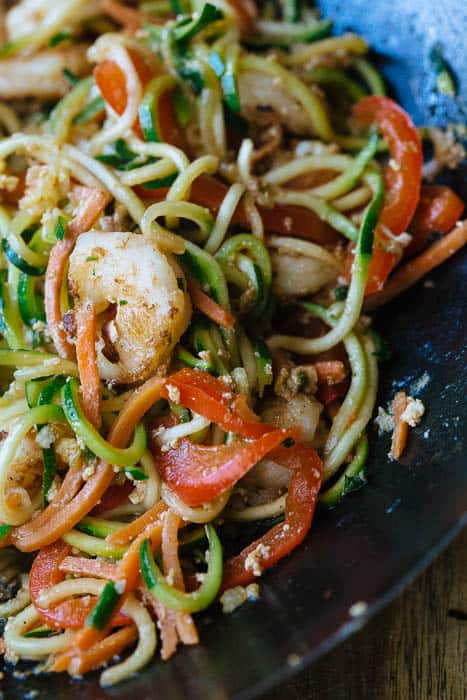
<svg viewBox="0 0 467 700">
<path fill-rule="evenodd" d="M 37 599 L 41 591 L 46 591 L 65 578 L 65 574 L 60 571 L 59 566 L 70 552 L 71 547 L 62 540 L 49 544 L 41 549 L 34 559 L 29 575 L 31 600 L 42 622 L 52 629 L 81 629 L 97 601 L 95 596 L 86 596 L 70 598 L 50 608 L 41 608 L 38 605 Z M 118 613 L 115 615 L 112 625 L 127 625 L 130 622 L 131 618 L 128 615 Z"/>
</svg>

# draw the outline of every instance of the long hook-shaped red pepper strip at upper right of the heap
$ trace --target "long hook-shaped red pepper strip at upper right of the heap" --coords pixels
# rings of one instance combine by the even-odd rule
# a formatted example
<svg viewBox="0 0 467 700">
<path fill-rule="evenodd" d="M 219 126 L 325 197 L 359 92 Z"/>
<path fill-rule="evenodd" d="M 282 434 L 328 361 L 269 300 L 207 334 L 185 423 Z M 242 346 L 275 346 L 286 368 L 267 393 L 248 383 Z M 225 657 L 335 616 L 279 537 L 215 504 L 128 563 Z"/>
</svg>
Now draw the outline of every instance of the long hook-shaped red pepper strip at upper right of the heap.
<svg viewBox="0 0 467 700">
<path fill-rule="evenodd" d="M 390 236 L 407 231 L 417 208 L 422 180 L 423 152 L 418 131 L 407 112 L 380 95 L 364 97 L 353 114 L 360 126 L 375 124 L 386 139 L 391 159 L 384 170 L 386 197 L 376 229 L 366 294 L 383 288 L 400 255 L 388 250 Z M 354 246 L 349 246 L 345 274 L 350 278 Z"/>
</svg>

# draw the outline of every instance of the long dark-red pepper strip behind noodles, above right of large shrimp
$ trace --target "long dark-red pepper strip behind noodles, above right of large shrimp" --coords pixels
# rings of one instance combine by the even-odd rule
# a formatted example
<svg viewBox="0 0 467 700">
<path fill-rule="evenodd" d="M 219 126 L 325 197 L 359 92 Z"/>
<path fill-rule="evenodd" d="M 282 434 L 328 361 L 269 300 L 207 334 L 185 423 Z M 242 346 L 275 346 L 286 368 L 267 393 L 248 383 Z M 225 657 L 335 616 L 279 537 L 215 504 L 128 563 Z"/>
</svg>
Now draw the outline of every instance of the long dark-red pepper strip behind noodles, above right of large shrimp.
<svg viewBox="0 0 467 700">
<path fill-rule="evenodd" d="M 135 187 L 135 191 L 147 202 L 162 202 L 167 196 L 168 189 L 160 187 L 150 190 L 139 186 Z M 207 207 L 214 214 L 217 214 L 227 192 L 228 186 L 221 180 L 210 175 L 201 175 L 193 182 L 190 202 Z M 340 240 L 339 234 L 333 228 L 305 207 L 275 204 L 270 208 L 261 206 L 257 208 L 263 219 L 264 228 L 270 233 L 298 236 L 320 244 L 332 244 Z M 240 200 L 233 215 L 232 224 L 249 226 L 242 200 Z"/>
</svg>

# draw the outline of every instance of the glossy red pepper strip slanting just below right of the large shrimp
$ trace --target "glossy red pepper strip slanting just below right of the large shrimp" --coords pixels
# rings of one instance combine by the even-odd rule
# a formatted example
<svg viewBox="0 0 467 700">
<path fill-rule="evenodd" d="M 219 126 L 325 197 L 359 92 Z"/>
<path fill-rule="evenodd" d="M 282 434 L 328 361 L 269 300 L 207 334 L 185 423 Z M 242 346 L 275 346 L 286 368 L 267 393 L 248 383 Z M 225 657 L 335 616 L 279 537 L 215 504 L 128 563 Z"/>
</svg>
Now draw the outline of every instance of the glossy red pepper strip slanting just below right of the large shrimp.
<svg viewBox="0 0 467 700">
<path fill-rule="evenodd" d="M 224 430 L 246 438 L 258 438 L 274 430 L 260 423 L 244 396 L 234 394 L 229 386 L 207 372 L 184 367 L 172 374 L 162 387 L 161 396 L 196 411 Z"/>
</svg>

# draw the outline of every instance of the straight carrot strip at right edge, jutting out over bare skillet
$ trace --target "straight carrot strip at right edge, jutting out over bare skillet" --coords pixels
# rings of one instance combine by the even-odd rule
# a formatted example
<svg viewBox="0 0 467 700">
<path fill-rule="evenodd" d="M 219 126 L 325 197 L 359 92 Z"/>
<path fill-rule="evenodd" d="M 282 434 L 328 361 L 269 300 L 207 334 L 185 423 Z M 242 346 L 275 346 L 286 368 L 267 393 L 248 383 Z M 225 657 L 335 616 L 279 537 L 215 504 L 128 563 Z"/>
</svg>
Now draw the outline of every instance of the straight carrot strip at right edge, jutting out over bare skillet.
<svg viewBox="0 0 467 700">
<path fill-rule="evenodd" d="M 425 250 L 416 258 L 400 267 L 389 280 L 385 288 L 368 297 L 365 311 L 375 311 L 391 299 L 399 296 L 406 289 L 416 284 L 435 267 L 448 260 L 467 243 L 467 221 L 459 222 L 448 234 Z"/>
</svg>

